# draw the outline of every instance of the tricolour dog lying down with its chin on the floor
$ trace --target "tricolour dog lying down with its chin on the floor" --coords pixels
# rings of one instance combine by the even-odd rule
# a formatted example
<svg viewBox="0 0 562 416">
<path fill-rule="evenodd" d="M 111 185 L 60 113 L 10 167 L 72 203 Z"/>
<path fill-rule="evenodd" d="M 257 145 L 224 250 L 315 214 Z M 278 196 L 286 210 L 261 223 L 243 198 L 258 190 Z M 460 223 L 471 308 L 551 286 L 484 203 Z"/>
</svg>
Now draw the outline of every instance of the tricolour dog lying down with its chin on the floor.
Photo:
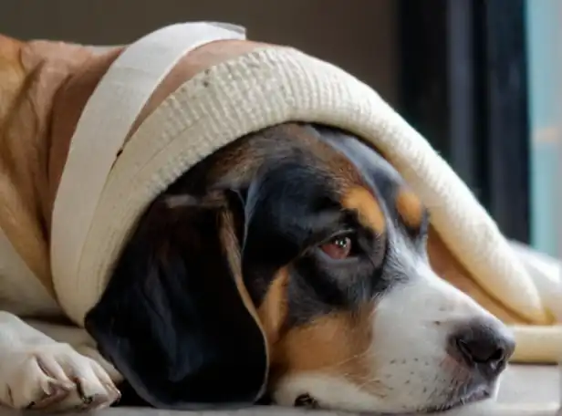
<svg viewBox="0 0 562 416">
<path fill-rule="evenodd" d="M 157 407 L 430 412 L 494 395 L 512 334 L 435 273 L 430 213 L 384 155 L 325 125 L 259 130 L 184 172 L 142 214 L 86 328 L 69 324 L 50 213 L 68 137 L 119 52 L 0 37 L 0 228 L 32 272 L 0 274 L 3 405 L 98 409 L 127 386 Z"/>
</svg>

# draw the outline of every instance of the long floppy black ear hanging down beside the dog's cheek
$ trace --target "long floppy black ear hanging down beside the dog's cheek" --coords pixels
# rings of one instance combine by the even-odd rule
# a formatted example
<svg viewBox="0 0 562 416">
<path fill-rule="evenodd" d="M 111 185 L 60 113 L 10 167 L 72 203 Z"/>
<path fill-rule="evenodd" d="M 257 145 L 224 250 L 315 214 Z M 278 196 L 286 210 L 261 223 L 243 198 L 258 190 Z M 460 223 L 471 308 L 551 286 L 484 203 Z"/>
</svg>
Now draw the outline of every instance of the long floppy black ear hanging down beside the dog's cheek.
<svg viewBox="0 0 562 416">
<path fill-rule="evenodd" d="M 253 403 L 268 359 L 240 273 L 241 219 L 227 199 L 182 201 L 161 199 L 143 216 L 86 328 L 154 407 Z"/>
</svg>

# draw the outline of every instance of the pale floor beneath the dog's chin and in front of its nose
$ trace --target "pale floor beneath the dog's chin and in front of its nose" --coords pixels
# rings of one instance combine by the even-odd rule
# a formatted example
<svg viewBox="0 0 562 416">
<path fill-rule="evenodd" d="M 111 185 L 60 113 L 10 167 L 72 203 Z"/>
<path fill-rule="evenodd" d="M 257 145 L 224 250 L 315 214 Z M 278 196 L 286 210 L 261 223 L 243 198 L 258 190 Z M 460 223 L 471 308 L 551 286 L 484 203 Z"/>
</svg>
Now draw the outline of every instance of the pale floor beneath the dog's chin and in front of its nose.
<svg viewBox="0 0 562 416">
<path fill-rule="evenodd" d="M 498 400 L 512 406 L 504 411 L 455 411 L 454 416 L 562 416 L 557 414 L 560 401 L 560 371 L 555 366 L 511 366 L 507 369 L 500 388 Z M 103 416 L 343 416 L 345 412 L 298 411 L 276 407 L 253 407 L 240 411 L 173 412 L 151 409 L 119 408 L 100 411 Z M 13 411 L 0 411 L 0 416 L 18 414 Z M 21 414 L 21 413 L 19 413 Z M 30 412 L 30 414 L 33 414 Z M 36 414 L 36 413 L 35 413 Z M 443 413 L 442 413 L 443 414 Z M 450 413 L 449 413 L 450 414 Z"/>
</svg>

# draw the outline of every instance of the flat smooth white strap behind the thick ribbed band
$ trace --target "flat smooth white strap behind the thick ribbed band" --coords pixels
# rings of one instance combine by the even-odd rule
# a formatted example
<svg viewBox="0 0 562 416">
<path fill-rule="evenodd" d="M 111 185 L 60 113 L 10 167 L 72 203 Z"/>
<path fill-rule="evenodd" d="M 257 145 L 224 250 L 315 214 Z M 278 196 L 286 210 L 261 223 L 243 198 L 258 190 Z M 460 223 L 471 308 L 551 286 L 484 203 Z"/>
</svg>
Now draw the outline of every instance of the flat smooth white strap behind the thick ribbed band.
<svg viewBox="0 0 562 416">
<path fill-rule="evenodd" d="M 51 227 L 52 276 L 64 281 L 76 276 L 115 155 L 154 89 L 186 53 L 223 39 L 245 39 L 244 29 L 206 22 L 165 26 L 125 48 L 101 78 L 82 111 L 58 184 Z"/>
</svg>

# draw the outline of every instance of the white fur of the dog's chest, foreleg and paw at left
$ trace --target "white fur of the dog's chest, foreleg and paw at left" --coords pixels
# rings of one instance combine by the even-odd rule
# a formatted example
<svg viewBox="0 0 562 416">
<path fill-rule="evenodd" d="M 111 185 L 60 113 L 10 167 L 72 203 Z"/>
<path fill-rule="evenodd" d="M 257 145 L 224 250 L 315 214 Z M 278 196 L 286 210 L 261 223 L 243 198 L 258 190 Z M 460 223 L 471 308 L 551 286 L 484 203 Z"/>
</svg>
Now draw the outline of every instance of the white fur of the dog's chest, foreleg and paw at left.
<svg viewBox="0 0 562 416">
<path fill-rule="evenodd" d="M 52 319 L 62 312 L 0 229 L 0 404 L 25 409 L 35 402 L 44 411 L 72 411 L 119 397 L 114 382 L 120 374 L 84 329 L 17 317 L 29 315 Z M 93 397 L 88 405 L 77 383 Z"/>
</svg>

